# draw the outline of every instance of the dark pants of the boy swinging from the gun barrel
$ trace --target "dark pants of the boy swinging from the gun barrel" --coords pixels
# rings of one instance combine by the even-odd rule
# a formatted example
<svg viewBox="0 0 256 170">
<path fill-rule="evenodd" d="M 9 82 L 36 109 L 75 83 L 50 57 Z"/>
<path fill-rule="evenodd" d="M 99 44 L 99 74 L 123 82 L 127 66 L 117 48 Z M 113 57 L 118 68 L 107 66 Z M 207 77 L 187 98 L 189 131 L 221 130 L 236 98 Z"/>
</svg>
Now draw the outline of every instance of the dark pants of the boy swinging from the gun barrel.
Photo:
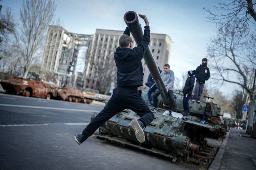
<svg viewBox="0 0 256 170">
<path fill-rule="evenodd" d="M 154 120 L 154 114 L 141 98 L 141 91 L 137 90 L 137 87 L 117 87 L 113 90 L 107 105 L 83 130 L 83 135 L 91 136 L 103 123 L 126 108 L 140 116 L 138 120 L 144 127 Z"/>
</svg>

